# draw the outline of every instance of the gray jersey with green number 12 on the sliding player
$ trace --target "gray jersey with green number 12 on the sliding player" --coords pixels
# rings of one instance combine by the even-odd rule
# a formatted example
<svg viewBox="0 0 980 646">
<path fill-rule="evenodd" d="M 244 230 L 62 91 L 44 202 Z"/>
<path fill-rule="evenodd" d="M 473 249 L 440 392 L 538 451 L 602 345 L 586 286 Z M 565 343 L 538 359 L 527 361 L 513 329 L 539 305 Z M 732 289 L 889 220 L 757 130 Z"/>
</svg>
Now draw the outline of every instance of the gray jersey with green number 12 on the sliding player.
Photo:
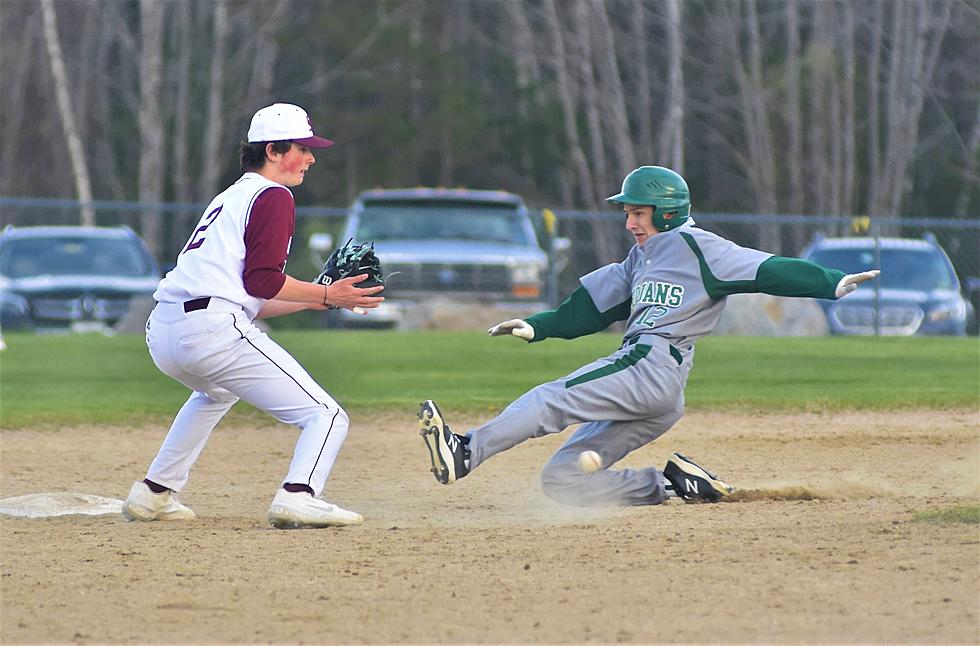
<svg viewBox="0 0 980 646">
<path fill-rule="evenodd" d="M 599 311 L 630 301 L 626 340 L 653 333 L 686 348 L 717 325 L 725 305 L 724 296 L 713 297 L 718 288 L 753 282 L 771 257 L 688 221 L 634 246 L 623 262 L 600 267 L 581 282 Z"/>
</svg>

